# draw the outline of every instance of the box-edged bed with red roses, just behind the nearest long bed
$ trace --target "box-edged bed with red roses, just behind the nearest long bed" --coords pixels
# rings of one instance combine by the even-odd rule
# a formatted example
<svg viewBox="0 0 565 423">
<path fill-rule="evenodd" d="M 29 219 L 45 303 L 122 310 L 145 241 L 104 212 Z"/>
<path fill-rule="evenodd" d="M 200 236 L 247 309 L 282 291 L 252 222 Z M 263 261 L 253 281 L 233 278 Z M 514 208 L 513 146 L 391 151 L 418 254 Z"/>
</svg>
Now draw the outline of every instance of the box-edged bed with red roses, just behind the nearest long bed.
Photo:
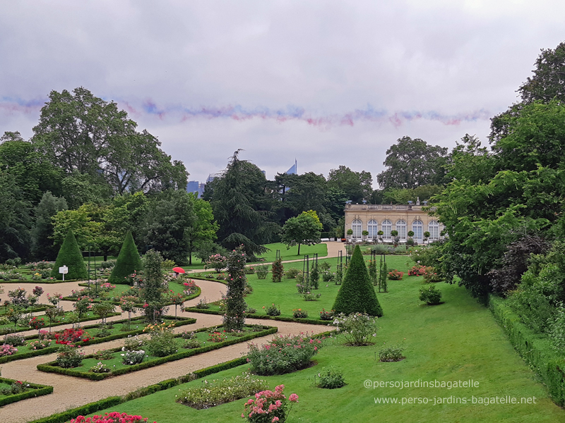
<svg viewBox="0 0 565 423">
<path fill-rule="evenodd" d="M 163 317 L 163 319 L 165 319 L 165 321 L 167 322 L 170 322 L 174 326 L 184 326 L 187 324 L 194 324 L 196 322 L 196 319 L 191 319 L 189 317 L 178 317 L 177 320 L 174 320 L 174 317 L 165 316 Z M 145 321 L 143 320 L 143 318 L 134 319 L 131 321 L 131 331 L 121 331 L 124 326 L 127 326 L 128 319 L 112 321 L 112 324 L 114 325 L 114 329 L 109 329 L 109 336 L 97 336 L 97 331 L 99 329 L 98 324 L 82 326 L 81 329 L 89 331 L 89 334 L 94 336 L 94 339 L 90 338 L 90 340 L 86 342 L 77 342 L 76 345 L 94 345 L 97 343 L 113 341 L 114 339 L 127 338 L 128 336 L 134 336 L 139 333 L 143 333 L 143 329 L 145 328 Z M 11 362 L 13 360 L 23 360 L 24 358 L 36 357 L 37 355 L 56 353 L 60 346 L 57 345 L 55 341 L 51 341 L 49 346 L 42 348 L 37 344 L 37 341 L 40 341 L 39 336 L 37 335 L 26 336 L 25 340 L 28 341 L 28 345 L 17 347 L 18 351 L 16 353 L 13 353 L 12 355 L 4 355 L 3 357 L 0 357 L 0 363 Z"/>
</svg>

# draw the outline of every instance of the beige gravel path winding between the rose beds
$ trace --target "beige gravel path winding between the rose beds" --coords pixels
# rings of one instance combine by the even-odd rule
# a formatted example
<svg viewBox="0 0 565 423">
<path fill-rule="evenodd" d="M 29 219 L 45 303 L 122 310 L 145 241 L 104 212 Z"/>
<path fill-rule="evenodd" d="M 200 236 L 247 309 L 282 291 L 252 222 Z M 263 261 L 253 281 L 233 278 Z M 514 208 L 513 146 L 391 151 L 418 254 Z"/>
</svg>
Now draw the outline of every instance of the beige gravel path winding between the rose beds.
<svg viewBox="0 0 565 423">
<path fill-rule="evenodd" d="M 338 245 L 341 247 L 341 243 L 328 243 L 328 257 L 331 257 L 330 245 L 332 246 L 332 253 L 337 255 L 337 247 Z M 14 284 L 11 284 L 9 288 L 13 289 L 13 286 Z M 71 293 L 71 290 L 80 289 L 76 282 L 43 285 L 41 283 L 22 283 L 20 286 L 28 290 L 28 292 L 30 292 L 32 288 L 35 288 L 35 286 L 42 286 L 44 288 L 44 294 L 42 295 L 41 302 L 47 302 L 47 293 L 61 293 L 63 295 L 68 295 Z M 222 293 L 225 293 L 227 290 L 227 287 L 224 284 L 213 281 L 199 280 L 198 286 L 202 289 L 201 296 L 194 300 L 187 301 L 185 305 L 194 306 L 198 303 L 200 298 L 204 297 L 206 297 L 208 302 L 220 300 Z M 61 305 L 63 305 L 66 310 L 73 309 L 72 302 L 70 301 L 62 301 Z M 222 323 L 222 317 L 216 314 L 179 312 L 179 316 L 194 317 L 197 321 L 195 324 L 176 328 L 175 331 L 194 330 Z M 124 313 L 123 316 L 112 317 L 108 320 L 124 319 L 126 317 L 127 313 Z M 299 324 L 286 321 L 247 319 L 247 322 L 249 324 L 268 324 L 269 326 L 277 326 L 279 334 L 292 334 L 306 331 L 321 333 L 328 330 L 327 326 Z M 57 326 L 57 330 L 70 326 L 71 325 Z M 35 331 L 22 333 L 32 334 L 35 333 Z M 261 338 L 256 338 L 254 342 L 266 343 L 270 338 L 272 338 L 272 336 L 263 336 Z M 96 350 L 104 350 L 107 348 L 121 346 L 123 345 L 123 342 L 123 340 L 116 340 L 92 345 L 85 348 L 85 353 L 90 354 L 94 353 Z M 242 354 L 246 353 L 246 351 L 247 344 L 239 343 L 221 348 L 220 350 L 209 351 L 208 353 L 161 364 L 160 366 L 152 367 L 150 369 L 116 376 L 111 379 L 107 379 L 107 381 L 89 381 L 88 379 L 81 379 L 72 376 L 39 372 L 36 368 L 37 364 L 55 360 L 57 356 L 55 353 L 8 362 L 1 366 L 2 376 L 8 379 L 50 385 L 54 387 L 54 390 L 52 394 L 47 396 L 30 398 L 28 400 L 18 401 L 18 403 L 12 403 L 1 407 L 0 422 L 30 422 L 31 420 L 38 419 L 40 417 L 46 417 L 56 412 L 62 412 L 69 408 L 92 403 L 93 401 L 107 398 L 109 396 L 125 395 L 126 393 L 135 391 L 138 388 L 156 384 L 159 381 L 182 376 L 220 362 L 233 360 L 234 358 L 240 357 Z"/>
</svg>

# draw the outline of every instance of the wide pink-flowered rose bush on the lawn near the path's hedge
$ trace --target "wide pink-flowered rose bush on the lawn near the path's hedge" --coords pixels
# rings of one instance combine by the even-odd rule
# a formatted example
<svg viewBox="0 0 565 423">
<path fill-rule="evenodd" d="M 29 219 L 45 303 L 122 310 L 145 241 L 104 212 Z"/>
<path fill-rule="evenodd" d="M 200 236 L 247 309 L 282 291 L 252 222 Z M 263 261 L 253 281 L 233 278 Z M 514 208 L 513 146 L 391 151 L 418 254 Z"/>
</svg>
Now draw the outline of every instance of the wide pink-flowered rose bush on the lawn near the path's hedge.
<svg viewBox="0 0 565 423">
<path fill-rule="evenodd" d="M 285 374 L 308 367 L 321 346 L 319 339 L 304 333 L 275 336 L 266 345 L 249 343 L 247 360 L 257 374 Z"/>
</svg>

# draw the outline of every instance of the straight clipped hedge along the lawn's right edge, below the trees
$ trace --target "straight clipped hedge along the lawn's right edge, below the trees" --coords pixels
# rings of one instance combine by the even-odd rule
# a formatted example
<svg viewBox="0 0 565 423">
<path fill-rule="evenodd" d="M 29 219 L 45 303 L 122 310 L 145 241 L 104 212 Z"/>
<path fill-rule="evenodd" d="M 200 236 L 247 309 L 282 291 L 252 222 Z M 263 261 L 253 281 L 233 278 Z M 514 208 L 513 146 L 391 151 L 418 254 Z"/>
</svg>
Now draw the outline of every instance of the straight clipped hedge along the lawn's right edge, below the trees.
<svg viewBox="0 0 565 423">
<path fill-rule="evenodd" d="M 489 308 L 508 335 L 513 347 L 541 377 L 554 403 L 565 405 L 565 362 L 552 348 L 549 338 L 535 333 L 501 298 L 491 295 Z"/>
</svg>

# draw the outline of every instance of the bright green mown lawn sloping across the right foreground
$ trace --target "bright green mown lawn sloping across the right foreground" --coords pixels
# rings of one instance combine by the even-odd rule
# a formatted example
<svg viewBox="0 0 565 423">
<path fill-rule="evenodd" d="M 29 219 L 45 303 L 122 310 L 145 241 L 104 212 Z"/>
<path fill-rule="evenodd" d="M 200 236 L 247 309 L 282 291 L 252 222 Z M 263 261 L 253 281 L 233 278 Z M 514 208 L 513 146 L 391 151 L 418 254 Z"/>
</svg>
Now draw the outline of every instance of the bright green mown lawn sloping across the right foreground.
<svg viewBox="0 0 565 423">
<path fill-rule="evenodd" d="M 400 266 L 405 257 L 387 258 L 389 267 Z M 280 284 L 252 281 L 259 303 L 281 304 L 283 309 L 307 304 L 289 301 L 292 290 L 285 280 Z M 264 284 L 264 288 L 262 287 Z M 379 319 L 376 345 L 347 347 L 333 340 L 315 357 L 317 365 L 300 372 L 266 379 L 270 387 L 285 385 L 285 393 L 297 393 L 299 403 L 289 422 L 564 422 L 565 411 L 548 398 L 544 386 L 513 350 L 502 329 L 488 309 L 478 304 L 464 288 L 437 284 L 445 303 L 425 306 L 417 300 L 422 278 L 405 276 L 389 282 L 389 293 L 378 294 L 384 316 Z M 325 286 L 323 287 L 325 288 Z M 335 288 L 322 293 L 331 297 Z M 251 300 L 252 296 L 248 297 Z M 324 295 L 322 295 L 322 298 Z M 317 308 L 322 302 L 316 304 Z M 314 310 L 313 310 L 314 311 Z M 383 345 L 404 343 L 406 359 L 381 363 L 375 355 Z M 328 366 L 343 369 L 347 386 L 323 390 L 314 386 L 314 376 Z M 208 379 L 218 379 L 244 372 L 244 365 L 220 372 Z M 365 388 L 364 381 L 477 381 L 476 388 Z M 105 411 L 128 412 L 148 417 L 159 423 L 177 422 L 242 422 L 245 400 L 220 405 L 208 410 L 194 410 L 175 403 L 179 388 L 198 386 L 202 380 L 176 386 L 132 400 Z M 472 404 L 473 397 L 511 396 L 533 398 L 535 404 Z M 376 404 L 376 398 L 428 398 L 428 404 Z M 434 398 L 465 398 L 467 404 L 437 403 Z M 423 400 L 422 400 L 423 401 Z M 435 403 L 435 405 L 434 405 Z M 103 411 L 104 412 L 104 411 Z M 103 414 L 99 412 L 97 414 Z"/>
</svg>

